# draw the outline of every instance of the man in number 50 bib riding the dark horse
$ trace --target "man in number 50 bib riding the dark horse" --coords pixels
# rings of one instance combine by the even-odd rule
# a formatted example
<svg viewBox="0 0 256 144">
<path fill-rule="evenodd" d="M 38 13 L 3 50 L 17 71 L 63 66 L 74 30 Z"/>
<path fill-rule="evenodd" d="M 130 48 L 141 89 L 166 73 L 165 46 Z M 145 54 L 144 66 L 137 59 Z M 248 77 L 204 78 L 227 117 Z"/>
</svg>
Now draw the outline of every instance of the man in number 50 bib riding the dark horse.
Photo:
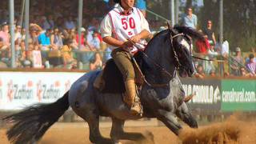
<svg viewBox="0 0 256 144">
<path fill-rule="evenodd" d="M 145 38 L 150 38 L 149 24 L 142 12 L 134 7 L 134 0 L 114 2 L 118 5 L 102 20 L 102 38 L 112 46 L 111 56 L 122 73 L 126 87 L 123 100 L 129 106 L 131 114 L 140 114 L 141 105 L 135 101 L 135 72 L 130 54 L 144 49 Z"/>
</svg>

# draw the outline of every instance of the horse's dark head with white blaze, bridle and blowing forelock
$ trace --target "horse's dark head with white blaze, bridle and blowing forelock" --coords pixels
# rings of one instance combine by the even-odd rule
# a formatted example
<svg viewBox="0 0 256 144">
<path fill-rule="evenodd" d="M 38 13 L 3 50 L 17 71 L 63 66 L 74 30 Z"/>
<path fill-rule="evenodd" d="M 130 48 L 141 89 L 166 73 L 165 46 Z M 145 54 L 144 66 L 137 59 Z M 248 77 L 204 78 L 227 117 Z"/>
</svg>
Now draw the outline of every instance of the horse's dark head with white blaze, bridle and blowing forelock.
<svg viewBox="0 0 256 144">
<path fill-rule="evenodd" d="M 202 38 L 202 35 L 196 30 L 185 26 L 175 26 L 174 29 L 170 29 L 170 41 L 175 60 L 174 64 L 181 77 L 191 77 L 195 73 L 190 36 Z"/>
</svg>

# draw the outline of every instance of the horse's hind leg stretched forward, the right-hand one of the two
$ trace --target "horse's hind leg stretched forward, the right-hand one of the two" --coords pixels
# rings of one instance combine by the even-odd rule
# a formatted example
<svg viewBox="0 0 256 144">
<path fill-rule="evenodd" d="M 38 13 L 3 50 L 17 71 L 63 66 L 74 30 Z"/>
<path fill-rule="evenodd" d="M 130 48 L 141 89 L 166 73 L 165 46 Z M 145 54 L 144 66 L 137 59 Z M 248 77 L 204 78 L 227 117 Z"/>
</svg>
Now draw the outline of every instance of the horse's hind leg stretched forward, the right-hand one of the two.
<svg viewBox="0 0 256 144">
<path fill-rule="evenodd" d="M 117 118 L 112 118 L 112 128 L 110 132 L 110 138 L 118 143 L 120 139 L 127 139 L 132 141 L 146 140 L 146 137 L 140 133 L 128 133 L 123 130 L 125 121 Z M 153 134 L 149 134 L 151 143 L 154 143 Z M 147 142 L 148 143 L 148 142 Z"/>
</svg>

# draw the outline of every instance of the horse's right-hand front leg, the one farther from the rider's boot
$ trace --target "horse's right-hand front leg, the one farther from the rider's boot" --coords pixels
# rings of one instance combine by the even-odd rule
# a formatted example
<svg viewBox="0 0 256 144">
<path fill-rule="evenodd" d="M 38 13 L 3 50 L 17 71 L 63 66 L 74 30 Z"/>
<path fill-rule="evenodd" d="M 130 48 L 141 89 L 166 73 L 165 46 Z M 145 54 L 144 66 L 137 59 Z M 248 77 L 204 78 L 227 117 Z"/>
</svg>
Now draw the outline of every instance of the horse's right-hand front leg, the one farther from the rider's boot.
<svg viewBox="0 0 256 144">
<path fill-rule="evenodd" d="M 183 102 L 182 105 L 178 108 L 178 110 L 176 111 L 176 115 L 178 116 L 178 118 L 181 118 L 182 121 L 185 122 L 190 127 L 198 128 L 198 122 L 190 113 L 190 110 L 186 106 L 185 102 Z"/>
</svg>

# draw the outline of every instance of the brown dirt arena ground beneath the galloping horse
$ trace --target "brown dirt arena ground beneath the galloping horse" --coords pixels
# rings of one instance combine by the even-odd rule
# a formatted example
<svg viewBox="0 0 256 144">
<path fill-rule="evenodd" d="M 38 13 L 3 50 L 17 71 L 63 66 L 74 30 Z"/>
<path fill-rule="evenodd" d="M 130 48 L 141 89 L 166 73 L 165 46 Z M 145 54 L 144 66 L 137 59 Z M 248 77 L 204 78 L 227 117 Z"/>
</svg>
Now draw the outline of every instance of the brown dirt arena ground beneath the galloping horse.
<svg viewBox="0 0 256 144">
<path fill-rule="evenodd" d="M 242 122 L 230 118 L 226 122 L 218 122 L 206 126 L 199 126 L 197 130 L 192 130 L 185 126 L 181 134 L 177 137 L 165 126 L 127 126 L 129 132 L 142 132 L 154 135 L 154 143 L 158 144 L 176 144 L 176 143 L 256 143 L 256 121 Z M 146 132 L 147 131 L 147 132 Z M 102 126 L 102 135 L 109 137 L 110 126 Z M 9 143 L 6 139 L 6 130 L 0 130 L 0 143 Z M 85 144 L 89 141 L 89 129 L 85 123 L 57 123 L 47 131 L 40 144 Z M 146 142 L 128 142 L 122 143 L 152 143 Z"/>
</svg>

